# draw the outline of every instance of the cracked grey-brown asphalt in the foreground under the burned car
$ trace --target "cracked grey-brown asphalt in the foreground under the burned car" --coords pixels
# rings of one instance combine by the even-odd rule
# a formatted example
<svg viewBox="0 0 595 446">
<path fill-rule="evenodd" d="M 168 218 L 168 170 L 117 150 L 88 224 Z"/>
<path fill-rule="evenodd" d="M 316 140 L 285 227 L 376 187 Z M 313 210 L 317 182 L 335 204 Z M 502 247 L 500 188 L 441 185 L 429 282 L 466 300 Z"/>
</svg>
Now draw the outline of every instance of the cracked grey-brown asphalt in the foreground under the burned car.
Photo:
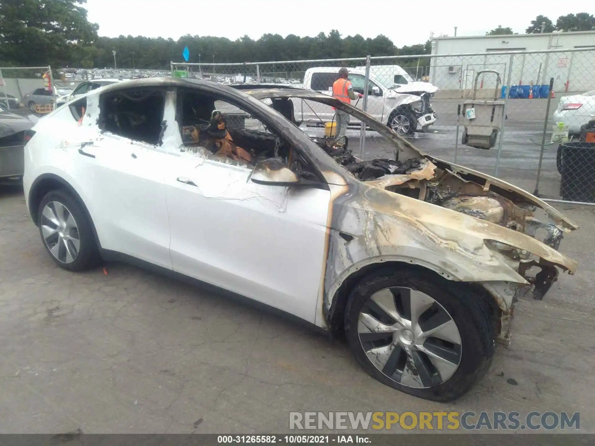
<svg viewBox="0 0 595 446">
<path fill-rule="evenodd" d="M 595 432 L 595 219 L 565 212 L 581 225 L 561 247 L 577 274 L 521 300 L 511 346 L 441 404 L 385 387 L 343 341 L 249 304 L 123 263 L 64 271 L 22 190 L 2 187 L 0 433 L 266 434 L 289 432 L 290 411 L 347 410 L 580 412 L 581 432 Z"/>
</svg>

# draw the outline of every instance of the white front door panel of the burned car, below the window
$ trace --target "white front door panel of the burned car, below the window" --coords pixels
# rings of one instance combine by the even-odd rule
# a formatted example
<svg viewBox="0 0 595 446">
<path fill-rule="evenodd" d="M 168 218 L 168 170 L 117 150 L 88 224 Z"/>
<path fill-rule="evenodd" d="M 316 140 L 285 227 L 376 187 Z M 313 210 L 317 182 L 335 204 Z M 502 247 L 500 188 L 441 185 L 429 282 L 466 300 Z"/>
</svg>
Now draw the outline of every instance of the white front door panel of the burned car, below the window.
<svg viewBox="0 0 595 446">
<path fill-rule="evenodd" d="M 211 158 L 184 153 L 165 178 L 174 271 L 314 322 L 330 191 Z"/>
</svg>

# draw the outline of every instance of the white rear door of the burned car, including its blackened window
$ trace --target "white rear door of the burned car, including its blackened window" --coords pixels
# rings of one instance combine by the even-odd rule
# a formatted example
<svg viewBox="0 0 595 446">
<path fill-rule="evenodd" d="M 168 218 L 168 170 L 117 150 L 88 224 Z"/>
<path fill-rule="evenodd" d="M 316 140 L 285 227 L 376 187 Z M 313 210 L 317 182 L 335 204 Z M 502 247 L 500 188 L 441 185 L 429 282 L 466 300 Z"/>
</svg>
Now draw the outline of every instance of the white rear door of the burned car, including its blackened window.
<svg viewBox="0 0 595 446">
<path fill-rule="evenodd" d="M 176 157 L 155 140 L 166 92 L 153 88 L 152 99 L 140 98 L 134 105 L 126 102 L 131 94 L 133 89 L 102 95 L 101 114 L 90 103 L 90 117 L 86 115 L 82 124 L 85 119 L 99 120 L 104 131 L 77 149 L 77 177 L 89 197 L 87 207 L 103 249 L 171 269 L 164 166 Z M 173 99 L 171 103 L 173 107 Z M 118 127 L 117 119 L 129 121 L 126 125 L 131 127 Z M 143 134 L 140 126 L 150 130 Z"/>
</svg>

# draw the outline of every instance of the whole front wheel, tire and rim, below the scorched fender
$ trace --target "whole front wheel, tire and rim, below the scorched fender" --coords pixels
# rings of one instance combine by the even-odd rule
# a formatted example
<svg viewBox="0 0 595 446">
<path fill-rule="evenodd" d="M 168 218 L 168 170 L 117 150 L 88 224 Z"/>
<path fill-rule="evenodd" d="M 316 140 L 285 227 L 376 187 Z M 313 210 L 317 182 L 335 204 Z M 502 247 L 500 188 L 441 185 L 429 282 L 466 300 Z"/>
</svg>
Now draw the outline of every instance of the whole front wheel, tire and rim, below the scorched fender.
<svg viewBox="0 0 595 446">
<path fill-rule="evenodd" d="M 493 299 L 418 268 L 372 272 L 347 301 L 345 331 L 375 379 L 434 401 L 463 395 L 490 366 Z"/>
</svg>

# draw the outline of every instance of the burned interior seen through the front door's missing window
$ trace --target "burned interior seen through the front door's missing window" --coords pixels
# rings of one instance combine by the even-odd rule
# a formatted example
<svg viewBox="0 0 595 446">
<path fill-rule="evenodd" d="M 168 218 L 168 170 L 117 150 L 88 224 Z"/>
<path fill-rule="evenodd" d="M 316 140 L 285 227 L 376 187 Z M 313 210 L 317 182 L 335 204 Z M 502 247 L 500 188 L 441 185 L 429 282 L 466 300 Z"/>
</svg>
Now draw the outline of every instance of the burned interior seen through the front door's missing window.
<svg viewBox="0 0 595 446">
<path fill-rule="evenodd" d="M 176 115 L 186 151 L 250 169 L 275 160 L 274 165 L 281 162 L 302 180 L 319 180 L 315 169 L 289 143 L 236 105 L 204 92 L 181 89 Z M 246 128 L 246 121 L 256 128 Z"/>
</svg>

